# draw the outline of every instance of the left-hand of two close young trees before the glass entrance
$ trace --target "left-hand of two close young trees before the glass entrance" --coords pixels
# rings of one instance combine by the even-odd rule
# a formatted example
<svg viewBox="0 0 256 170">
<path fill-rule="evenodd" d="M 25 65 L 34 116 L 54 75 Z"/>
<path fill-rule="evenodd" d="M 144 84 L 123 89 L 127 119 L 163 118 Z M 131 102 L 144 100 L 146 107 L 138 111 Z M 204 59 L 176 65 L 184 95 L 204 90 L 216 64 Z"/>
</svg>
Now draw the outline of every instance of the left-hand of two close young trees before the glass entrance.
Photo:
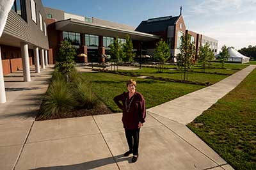
<svg viewBox="0 0 256 170">
<path fill-rule="evenodd" d="M 123 53 L 122 53 L 122 47 L 118 42 L 118 36 L 114 38 L 113 43 L 111 43 L 109 47 L 110 47 L 111 61 L 113 62 L 122 61 Z"/>
</svg>

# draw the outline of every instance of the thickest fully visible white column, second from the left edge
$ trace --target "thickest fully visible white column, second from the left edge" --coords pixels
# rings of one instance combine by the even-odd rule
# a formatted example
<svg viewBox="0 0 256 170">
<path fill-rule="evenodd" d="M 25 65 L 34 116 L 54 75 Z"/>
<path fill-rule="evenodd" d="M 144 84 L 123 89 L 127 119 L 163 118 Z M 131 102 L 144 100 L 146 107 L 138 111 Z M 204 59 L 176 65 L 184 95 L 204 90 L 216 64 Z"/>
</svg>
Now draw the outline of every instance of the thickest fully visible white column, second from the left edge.
<svg viewBox="0 0 256 170">
<path fill-rule="evenodd" d="M 20 43 L 22 67 L 23 67 L 23 79 L 24 81 L 31 81 L 29 70 L 29 57 L 28 57 L 28 43 Z"/>
</svg>

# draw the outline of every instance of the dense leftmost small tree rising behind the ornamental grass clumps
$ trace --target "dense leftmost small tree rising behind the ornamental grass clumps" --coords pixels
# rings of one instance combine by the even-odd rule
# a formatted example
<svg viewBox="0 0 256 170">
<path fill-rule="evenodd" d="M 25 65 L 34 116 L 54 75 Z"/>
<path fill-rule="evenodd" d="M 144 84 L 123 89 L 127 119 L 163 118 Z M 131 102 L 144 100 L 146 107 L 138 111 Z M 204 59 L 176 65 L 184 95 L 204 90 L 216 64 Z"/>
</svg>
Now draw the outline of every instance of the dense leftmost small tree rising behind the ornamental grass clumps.
<svg viewBox="0 0 256 170">
<path fill-rule="evenodd" d="M 58 52 L 56 68 L 65 76 L 67 82 L 70 79 L 70 73 L 74 69 L 75 56 L 76 48 L 67 40 L 62 41 Z"/>
</svg>

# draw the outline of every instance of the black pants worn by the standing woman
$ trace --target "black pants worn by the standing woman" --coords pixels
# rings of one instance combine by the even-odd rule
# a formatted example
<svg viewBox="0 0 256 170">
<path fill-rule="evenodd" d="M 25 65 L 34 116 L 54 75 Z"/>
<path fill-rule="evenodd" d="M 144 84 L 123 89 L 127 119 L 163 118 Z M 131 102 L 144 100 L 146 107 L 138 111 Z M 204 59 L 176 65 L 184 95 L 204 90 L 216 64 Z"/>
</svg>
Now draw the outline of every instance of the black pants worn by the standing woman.
<svg viewBox="0 0 256 170">
<path fill-rule="evenodd" d="M 125 129 L 125 136 L 129 146 L 129 151 L 132 151 L 133 155 L 138 155 L 140 128 L 134 130 Z"/>
</svg>

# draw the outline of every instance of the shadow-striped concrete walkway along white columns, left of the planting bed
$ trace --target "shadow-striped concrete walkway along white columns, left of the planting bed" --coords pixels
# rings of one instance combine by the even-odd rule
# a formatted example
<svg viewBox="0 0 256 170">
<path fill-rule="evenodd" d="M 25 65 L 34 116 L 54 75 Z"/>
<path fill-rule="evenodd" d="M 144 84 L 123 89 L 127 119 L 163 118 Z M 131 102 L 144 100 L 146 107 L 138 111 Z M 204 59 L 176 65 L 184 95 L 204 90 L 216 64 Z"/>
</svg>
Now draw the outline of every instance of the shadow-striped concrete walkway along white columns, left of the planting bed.
<svg viewBox="0 0 256 170">
<path fill-rule="evenodd" d="M 53 65 L 47 66 L 41 73 L 31 68 L 31 82 L 23 81 L 22 71 L 4 76 L 6 100 L 0 104 L 0 169 L 13 169 L 35 116 L 42 102 Z"/>
</svg>

